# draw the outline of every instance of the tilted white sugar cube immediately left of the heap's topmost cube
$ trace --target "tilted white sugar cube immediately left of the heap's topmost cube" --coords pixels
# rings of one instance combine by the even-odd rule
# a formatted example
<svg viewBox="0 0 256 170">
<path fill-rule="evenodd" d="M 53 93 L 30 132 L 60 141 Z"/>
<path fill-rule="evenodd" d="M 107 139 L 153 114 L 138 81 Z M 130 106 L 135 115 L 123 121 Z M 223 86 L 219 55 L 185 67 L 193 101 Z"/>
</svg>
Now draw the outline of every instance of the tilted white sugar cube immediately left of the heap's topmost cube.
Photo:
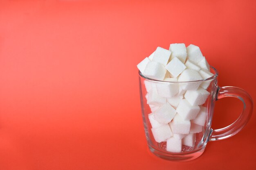
<svg viewBox="0 0 256 170">
<path fill-rule="evenodd" d="M 166 50 L 162 47 L 157 47 L 152 61 L 161 63 L 162 65 L 165 66 L 167 64 L 170 56 L 171 56 L 171 51 Z"/>
</svg>

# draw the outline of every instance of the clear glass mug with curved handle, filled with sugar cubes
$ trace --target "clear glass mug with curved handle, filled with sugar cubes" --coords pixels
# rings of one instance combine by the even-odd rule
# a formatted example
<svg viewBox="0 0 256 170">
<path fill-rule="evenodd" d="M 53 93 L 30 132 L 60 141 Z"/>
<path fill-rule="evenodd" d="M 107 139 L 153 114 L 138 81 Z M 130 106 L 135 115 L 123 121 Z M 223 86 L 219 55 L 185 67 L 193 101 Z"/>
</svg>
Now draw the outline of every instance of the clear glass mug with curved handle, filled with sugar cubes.
<svg viewBox="0 0 256 170">
<path fill-rule="evenodd" d="M 157 157 L 161 157 L 163 159 L 168 159 L 171 161 L 189 161 L 189 160 L 195 159 L 195 158 L 199 157 L 200 155 L 202 155 L 202 153 L 204 152 L 204 149 L 207 145 L 207 142 L 216 141 L 216 140 L 220 140 L 220 139 L 226 139 L 228 137 L 231 137 L 231 136 L 235 135 L 236 133 L 238 133 L 241 129 L 243 129 L 245 124 L 247 124 L 247 122 L 249 121 L 249 119 L 252 115 L 252 109 L 253 109 L 252 98 L 249 96 L 249 94 L 247 92 L 245 92 L 243 89 L 240 89 L 238 87 L 230 87 L 230 86 L 229 87 L 218 87 L 218 81 L 217 81 L 218 71 L 215 68 L 213 68 L 212 66 L 210 69 L 211 69 L 211 73 L 214 74 L 212 77 L 204 79 L 204 80 L 200 80 L 200 81 L 190 81 L 190 82 L 157 81 L 157 80 L 153 80 L 151 78 L 147 78 L 147 77 L 143 76 L 141 74 L 141 72 L 139 72 L 139 88 L 140 88 L 141 111 L 142 111 L 142 117 L 143 117 L 143 122 L 144 122 L 144 130 L 145 130 L 145 134 L 146 134 L 148 147 L 149 147 L 150 151 L 153 154 L 155 154 Z M 179 90 L 182 90 L 182 87 L 184 87 L 186 85 L 192 85 L 192 86 L 198 85 L 198 84 L 204 84 L 207 86 L 209 85 L 207 88 L 207 91 L 210 94 L 209 94 L 207 100 L 204 102 L 204 104 L 202 104 L 200 106 L 200 108 L 204 107 L 204 113 L 206 113 L 206 116 L 205 116 L 206 118 L 201 118 L 201 120 L 206 119 L 206 120 L 204 120 L 204 125 L 202 124 L 202 121 L 201 121 L 201 126 L 198 126 L 198 124 L 195 125 L 193 120 L 191 120 L 191 122 L 190 122 L 191 129 L 189 129 L 189 133 L 191 133 L 192 128 L 193 128 L 193 135 L 194 135 L 192 137 L 193 146 L 191 144 L 189 146 L 184 145 L 183 144 L 184 138 L 181 139 L 182 135 L 180 135 L 180 136 L 178 136 L 178 138 L 180 137 L 178 140 L 179 142 L 176 145 L 178 145 L 180 147 L 180 140 L 181 140 L 182 141 L 182 145 L 181 145 L 182 150 L 179 152 L 176 152 L 176 151 L 169 152 L 166 150 L 166 143 L 167 143 L 166 138 L 170 137 L 170 133 L 168 132 L 168 134 L 166 134 L 166 132 L 164 132 L 164 130 L 163 131 L 160 131 L 159 129 L 155 130 L 159 126 L 152 128 L 152 125 L 149 120 L 149 116 L 151 115 L 151 119 L 152 119 L 152 114 L 154 112 L 156 112 L 156 110 L 159 108 L 159 106 L 147 104 L 147 98 L 149 97 L 148 95 L 150 93 L 150 90 L 152 90 L 152 89 L 146 89 L 145 83 L 146 83 L 146 86 L 148 86 L 148 84 L 151 83 L 150 86 L 152 86 L 151 87 L 152 89 L 154 88 L 153 87 L 154 84 L 161 84 L 161 85 L 171 85 L 173 87 L 179 87 Z M 147 87 L 147 88 L 149 88 L 149 87 Z M 153 90 L 155 90 L 155 89 L 153 89 Z M 147 91 L 149 91 L 149 92 L 147 92 Z M 153 92 L 151 92 L 151 93 L 153 93 Z M 179 91 L 179 93 L 180 93 L 180 91 Z M 157 91 L 155 92 L 155 94 L 150 94 L 150 95 L 152 98 L 152 95 L 157 95 Z M 225 98 L 225 97 L 234 97 L 234 98 L 240 99 L 243 102 L 243 111 L 240 114 L 239 118 L 231 125 L 229 125 L 225 128 L 222 128 L 222 129 L 213 130 L 213 129 L 211 129 L 211 122 L 212 122 L 212 118 L 213 118 L 213 110 L 214 110 L 215 102 L 216 102 L 216 100 L 219 100 L 220 98 Z M 183 96 L 181 95 L 180 98 L 184 99 L 184 94 L 183 94 Z M 180 99 L 180 100 L 182 100 L 182 99 Z M 161 103 L 160 100 L 158 102 Z M 165 102 L 168 102 L 168 100 L 166 101 L 166 99 L 165 99 Z M 177 107 L 177 104 L 178 103 L 176 103 L 176 105 L 173 103 L 171 104 L 171 106 L 173 107 L 173 110 L 176 109 L 175 106 Z M 173 106 L 173 105 L 175 105 L 175 106 Z M 152 111 L 151 111 L 151 109 L 152 109 Z M 152 114 L 150 114 L 150 113 L 152 113 Z M 204 116 L 201 116 L 201 117 L 204 117 Z M 155 120 L 153 120 L 153 123 L 154 123 L 154 121 Z M 155 125 L 159 125 L 159 123 L 157 122 L 157 124 L 155 124 Z M 167 125 L 169 125 L 171 131 L 173 131 L 170 124 L 166 123 L 166 124 L 162 124 L 162 125 L 165 126 L 165 128 L 163 128 L 163 129 L 167 128 L 167 131 L 170 131 L 167 126 Z M 162 126 L 162 125 L 160 124 L 160 126 Z M 195 126 L 200 127 L 199 131 L 196 130 L 198 128 L 195 128 Z M 184 129 L 186 129 L 185 125 L 184 125 Z M 155 137 L 152 133 L 152 130 L 155 133 L 160 133 L 160 136 L 162 135 L 162 137 L 166 137 L 166 138 L 164 138 L 164 141 L 163 141 L 163 139 L 162 140 L 158 139 L 159 141 L 156 142 Z M 182 128 L 181 128 L 181 130 L 182 130 Z M 174 133 L 172 133 L 171 135 L 173 135 L 173 134 Z M 186 134 L 188 134 L 188 133 L 186 133 Z M 166 135 L 166 136 L 164 136 L 164 135 Z M 177 135 L 177 134 L 175 134 L 175 135 Z M 185 136 L 185 135 L 183 135 L 183 136 Z M 176 137 L 176 139 L 177 139 L 177 137 Z M 188 139 L 188 140 L 191 141 L 191 139 Z M 171 142 L 171 144 L 175 145 L 175 142 L 174 143 Z"/>
</svg>

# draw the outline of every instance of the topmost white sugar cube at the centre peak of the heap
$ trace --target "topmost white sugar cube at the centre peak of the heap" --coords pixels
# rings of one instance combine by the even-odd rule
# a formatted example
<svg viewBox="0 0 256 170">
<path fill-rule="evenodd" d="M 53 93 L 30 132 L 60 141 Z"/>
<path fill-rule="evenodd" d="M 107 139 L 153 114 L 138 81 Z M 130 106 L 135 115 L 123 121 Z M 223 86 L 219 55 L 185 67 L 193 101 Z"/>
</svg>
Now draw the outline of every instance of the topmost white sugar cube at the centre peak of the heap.
<svg viewBox="0 0 256 170">
<path fill-rule="evenodd" d="M 177 57 L 180 59 L 182 63 L 185 63 L 186 61 L 186 46 L 184 43 L 180 44 L 170 44 L 169 50 L 172 52 L 171 53 L 171 59 L 174 57 Z"/>
</svg>

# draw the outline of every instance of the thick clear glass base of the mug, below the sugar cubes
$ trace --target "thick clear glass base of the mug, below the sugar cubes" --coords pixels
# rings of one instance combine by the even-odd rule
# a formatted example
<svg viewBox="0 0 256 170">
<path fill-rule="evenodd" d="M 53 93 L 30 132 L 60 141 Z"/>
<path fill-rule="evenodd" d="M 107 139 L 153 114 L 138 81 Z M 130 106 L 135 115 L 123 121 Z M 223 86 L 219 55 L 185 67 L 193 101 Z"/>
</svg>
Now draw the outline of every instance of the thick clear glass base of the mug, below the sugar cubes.
<svg viewBox="0 0 256 170">
<path fill-rule="evenodd" d="M 171 154 L 168 152 L 162 152 L 160 150 L 157 150 L 153 148 L 152 146 L 149 146 L 150 151 L 156 155 L 159 158 L 166 159 L 169 161 L 191 161 L 193 159 L 196 159 L 200 157 L 204 153 L 205 146 L 199 150 L 195 150 L 194 152 L 189 153 L 177 153 L 177 154 Z"/>
</svg>

